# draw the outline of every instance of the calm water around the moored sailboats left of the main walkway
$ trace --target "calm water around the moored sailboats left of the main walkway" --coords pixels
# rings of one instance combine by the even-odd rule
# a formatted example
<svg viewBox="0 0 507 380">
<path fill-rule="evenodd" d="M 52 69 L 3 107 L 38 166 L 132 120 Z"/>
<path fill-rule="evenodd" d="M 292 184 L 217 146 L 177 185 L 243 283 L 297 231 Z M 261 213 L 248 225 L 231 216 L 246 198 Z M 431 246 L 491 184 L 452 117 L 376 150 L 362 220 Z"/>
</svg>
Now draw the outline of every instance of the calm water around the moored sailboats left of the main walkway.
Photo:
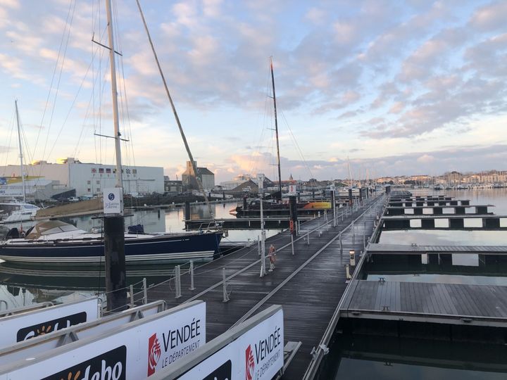
<svg viewBox="0 0 507 380">
<path fill-rule="evenodd" d="M 229 212 L 237 202 L 213 204 L 215 216 L 226 218 L 234 216 Z M 191 205 L 192 219 L 210 217 L 206 205 Z M 89 231 L 92 227 L 101 227 L 100 219 L 91 217 L 73 217 L 68 220 L 77 228 Z M 184 229 L 184 209 L 175 208 L 139 211 L 125 218 L 125 225 L 144 224 L 145 232 L 179 232 Z M 268 230 L 266 236 L 277 234 L 278 230 Z M 230 230 L 222 241 L 255 241 L 258 230 Z M 0 260 L 0 300 L 8 303 L 8 308 L 15 308 L 32 303 L 53 301 L 56 303 L 79 300 L 94 296 L 104 291 L 104 269 L 81 267 L 27 267 L 13 265 Z M 184 267 L 183 267 L 184 268 Z M 173 265 L 135 265 L 127 267 L 127 285 L 135 284 L 135 291 L 141 291 L 143 277 L 148 284 L 157 284 L 173 276 Z M 3 307 L 3 306 L 1 306 Z"/>
</svg>

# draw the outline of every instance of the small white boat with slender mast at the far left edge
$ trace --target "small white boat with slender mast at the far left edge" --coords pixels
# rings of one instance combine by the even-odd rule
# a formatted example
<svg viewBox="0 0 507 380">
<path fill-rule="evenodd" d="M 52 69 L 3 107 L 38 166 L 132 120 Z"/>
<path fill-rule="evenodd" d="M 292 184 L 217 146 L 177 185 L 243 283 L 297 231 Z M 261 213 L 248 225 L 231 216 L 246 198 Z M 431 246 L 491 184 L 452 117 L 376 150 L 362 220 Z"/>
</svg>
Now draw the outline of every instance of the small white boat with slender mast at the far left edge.
<svg viewBox="0 0 507 380">
<path fill-rule="evenodd" d="M 25 167 L 23 166 L 23 145 L 21 144 L 21 127 L 20 118 L 18 113 L 18 101 L 14 101 L 16 121 L 18 123 L 18 141 L 19 141 L 19 153 L 20 153 L 20 170 L 21 170 L 21 182 L 23 183 L 23 202 L 13 200 L 9 202 L 0 203 L 0 223 L 17 223 L 26 222 L 32 220 L 39 210 L 39 207 L 27 203 L 26 201 L 26 184 L 25 184 Z"/>
</svg>

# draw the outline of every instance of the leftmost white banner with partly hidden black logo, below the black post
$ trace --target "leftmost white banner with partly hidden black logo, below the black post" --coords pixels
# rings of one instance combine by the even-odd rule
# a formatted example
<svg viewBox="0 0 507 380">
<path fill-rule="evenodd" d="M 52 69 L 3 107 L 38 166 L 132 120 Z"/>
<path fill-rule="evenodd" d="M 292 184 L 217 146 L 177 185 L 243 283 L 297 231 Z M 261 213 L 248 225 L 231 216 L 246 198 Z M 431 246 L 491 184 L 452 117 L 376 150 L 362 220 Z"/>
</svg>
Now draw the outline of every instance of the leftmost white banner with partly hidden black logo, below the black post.
<svg viewBox="0 0 507 380">
<path fill-rule="evenodd" d="M 11 346 L 35 336 L 50 334 L 99 318 L 98 298 L 32 310 L 0 318 L 0 347 Z"/>
</svg>

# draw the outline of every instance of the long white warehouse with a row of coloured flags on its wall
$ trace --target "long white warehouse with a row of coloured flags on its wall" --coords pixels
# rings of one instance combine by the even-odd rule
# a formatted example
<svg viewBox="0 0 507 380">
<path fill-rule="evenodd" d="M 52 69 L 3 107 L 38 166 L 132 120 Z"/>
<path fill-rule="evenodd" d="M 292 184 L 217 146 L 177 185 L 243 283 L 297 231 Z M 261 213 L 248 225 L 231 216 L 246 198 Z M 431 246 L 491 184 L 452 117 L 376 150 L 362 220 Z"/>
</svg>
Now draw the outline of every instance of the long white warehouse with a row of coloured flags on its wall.
<svg viewBox="0 0 507 380">
<path fill-rule="evenodd" d="M 103 189 L 116 184 L 115 165 L 80 163 L 74 158 L 58 161 L 59 163 L 37 161 L 32 165 L 25 165 L 25 176 L 32 181 L 56 181 L 61 187 L 75 189 L 76 196 L 101 194 Z M 0 166 L 0 177 L 20 175 L 19 165 Z M 125 194 L 163 193 L 163 167 L 124 165 L 123 191 Z"/>
</svg>

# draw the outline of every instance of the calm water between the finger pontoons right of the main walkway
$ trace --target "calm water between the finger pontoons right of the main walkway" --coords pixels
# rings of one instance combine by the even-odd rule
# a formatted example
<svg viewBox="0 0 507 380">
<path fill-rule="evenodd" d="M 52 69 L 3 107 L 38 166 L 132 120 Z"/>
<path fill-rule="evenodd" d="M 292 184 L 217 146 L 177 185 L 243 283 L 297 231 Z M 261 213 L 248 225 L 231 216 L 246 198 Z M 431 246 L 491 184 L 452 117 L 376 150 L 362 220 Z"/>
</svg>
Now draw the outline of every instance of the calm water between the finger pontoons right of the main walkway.
<svg viewBox="0 0 507 380">
<path fill-rule="evenodd" d="M 470 191 L 413 191 L 470 199 L 472 204 L 494 204 L 496 214 L 507 215 L 507 189 Z M 418 245 L 507 245 L 506 232 L 389 231 L 381 243 Z M 491 284 L 507 286 L 507 258 L 478 255 L 427 255 L 375 258 L 363 268 L 362 278 L 378 281 Z M 507 379 L 507 348 L 494 344 L 459 343 L 375 335 L 337 334 L 323 362 L 320 379 L 496 380 Z"/>
</svg>

